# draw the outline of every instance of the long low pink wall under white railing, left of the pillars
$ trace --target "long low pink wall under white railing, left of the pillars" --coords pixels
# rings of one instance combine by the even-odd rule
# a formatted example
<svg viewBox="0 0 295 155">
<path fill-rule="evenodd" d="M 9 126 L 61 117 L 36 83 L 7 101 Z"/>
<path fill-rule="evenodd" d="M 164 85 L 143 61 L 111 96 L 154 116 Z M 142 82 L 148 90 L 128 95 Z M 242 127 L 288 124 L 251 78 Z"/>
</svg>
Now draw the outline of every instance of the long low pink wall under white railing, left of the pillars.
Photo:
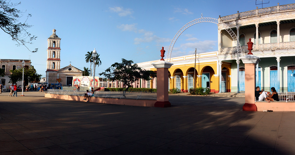
<svg viewBox="0 0 295 155">
<path fill-rule="evenodd" d="M 60 94 L 45 93 L 45 97 L 86 102 L 85 100 L 83 100 L 83 98 L 84 98 L 83 96 L 72 96 L 72 95 L 60 95 Z M 154 107 L 156 100 L 90 97 L 89 102 L 115 104 L 115 105 L 132 105 L 132 106 L 142 106 L 142 107 Z"/>
</svg>

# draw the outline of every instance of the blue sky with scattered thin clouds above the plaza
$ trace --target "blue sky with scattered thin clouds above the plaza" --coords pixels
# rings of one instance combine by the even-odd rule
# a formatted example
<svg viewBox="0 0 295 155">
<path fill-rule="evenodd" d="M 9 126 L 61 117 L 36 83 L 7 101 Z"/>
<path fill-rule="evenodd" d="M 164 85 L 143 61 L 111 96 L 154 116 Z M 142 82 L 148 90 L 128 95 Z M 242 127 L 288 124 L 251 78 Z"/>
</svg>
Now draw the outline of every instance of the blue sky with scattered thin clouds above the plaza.
<svg viewBox="0 0 295 155">
<path fill-rule="evenodd" d="M 19 1 L 11 0 L 12 3 Z M 266 3 L 268 1 L 264 1 Z M 257 1 L 261 3 L 261 1 Z M 292 0 L 269 1 L 263 7 L 294 3 Z M 101 65 L 96 68 L 96 76 L 121 59 L 134 63 L 160 59 L 162 46 L 166 50 L 178 30 L 186 23 L 203 17 L 218 18 L 261 8 L 255 0 L 26 0 L 15 6 L 22 10 L 27 24 L 33 25 L 27 31 L 37 36 L 33 44 L 17 46 L 8 34 L 0 30 L 0 59 L 30 59 L 38 74 L 45 77 L 47 60 L 47 38 L 56 29 L 60 41 L 60 68 L 71 65 L 83 70 L 90 68 L 85 54 L 94 50 L 100 54 Z M 171 56 L 216 51 L 217 25 L 198 23 L 185 30 L 177 39 Z M 93 67 L 91 67 L 93 68 Z"/>
</svg>

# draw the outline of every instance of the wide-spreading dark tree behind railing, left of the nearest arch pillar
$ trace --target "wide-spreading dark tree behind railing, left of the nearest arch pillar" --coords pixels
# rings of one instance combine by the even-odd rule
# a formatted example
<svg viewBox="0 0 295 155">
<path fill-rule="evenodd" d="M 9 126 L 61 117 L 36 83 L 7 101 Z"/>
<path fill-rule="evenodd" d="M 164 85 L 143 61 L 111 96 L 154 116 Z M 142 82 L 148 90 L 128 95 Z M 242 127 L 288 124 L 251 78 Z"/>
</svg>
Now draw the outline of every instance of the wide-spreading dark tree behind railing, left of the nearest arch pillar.
<svg viewBox="0 0 295 155">
<path fill-rule="evenodd" d="M 150 80 L 151 77 L 155 77 L 154 71 L 147 71 L 133 64 L 133 61 L 122 59 L 122 63 L 114 63 L 111 67 L 107 68 L 99 75 L 114 81 L 120 80 L 127 85 L 126 91 L 128 91 L 131 84 L 138 79 Z"/>
</svg>

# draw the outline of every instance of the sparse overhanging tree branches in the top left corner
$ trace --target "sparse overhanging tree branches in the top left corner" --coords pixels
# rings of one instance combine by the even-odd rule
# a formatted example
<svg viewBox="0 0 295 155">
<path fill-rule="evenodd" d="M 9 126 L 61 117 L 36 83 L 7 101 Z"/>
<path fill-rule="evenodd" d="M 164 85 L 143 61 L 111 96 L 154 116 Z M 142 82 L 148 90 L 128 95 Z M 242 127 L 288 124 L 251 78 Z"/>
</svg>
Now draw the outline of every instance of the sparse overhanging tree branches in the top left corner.
<svg viewBox="0 0 295 155">
<path fill-rule="evenodd" d="M 32 36 L 27 29 L 32 27 L 28 25 L 27 19 L 31 17 L 31 14 L 27 15 L 27 19 L 22 23 L 19 20 L 22 18 L 22 11 L 15 9 L 14 6 L 17 6 L 21 3 L 10 3 L 10 0 L 0 0 L 0 28 L 12 37 L 13 41 L 17 42 L 17 46 L 24 45 L 28 50 L 30 50 L 25 44 L 32 44 L 32 40 L 35 40 L 37 37 Z M 38 48 L 31 52 L 37 52 Z"/>
</svg>

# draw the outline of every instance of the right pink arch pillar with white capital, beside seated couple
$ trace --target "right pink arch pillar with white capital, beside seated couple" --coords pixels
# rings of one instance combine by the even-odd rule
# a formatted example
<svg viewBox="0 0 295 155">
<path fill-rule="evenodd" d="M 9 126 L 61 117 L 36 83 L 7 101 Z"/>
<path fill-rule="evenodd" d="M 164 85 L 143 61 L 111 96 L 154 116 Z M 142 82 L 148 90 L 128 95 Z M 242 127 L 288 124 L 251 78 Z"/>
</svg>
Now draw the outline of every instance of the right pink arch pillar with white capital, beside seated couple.
<svg viewBox="0 0 295 155">
<path fill-rule="evenodd" d="M 245 64 L 245 104 L 244 111 L 257 111 L 255 105 L 255 65 L 258 64 L 260 58 L 248 54 L 240 57 Z"/>
</svg>

